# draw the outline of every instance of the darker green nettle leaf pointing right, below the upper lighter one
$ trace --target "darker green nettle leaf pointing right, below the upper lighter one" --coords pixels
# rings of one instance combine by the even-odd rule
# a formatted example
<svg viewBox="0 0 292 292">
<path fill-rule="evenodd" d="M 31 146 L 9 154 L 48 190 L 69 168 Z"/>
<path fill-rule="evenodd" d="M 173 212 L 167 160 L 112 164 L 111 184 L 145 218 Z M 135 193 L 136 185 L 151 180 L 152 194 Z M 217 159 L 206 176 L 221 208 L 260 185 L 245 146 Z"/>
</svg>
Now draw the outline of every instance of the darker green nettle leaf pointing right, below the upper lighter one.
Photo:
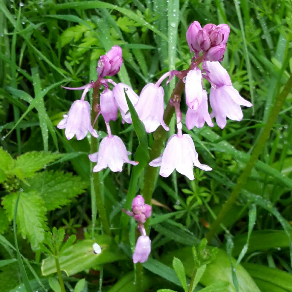
<svg viewBox="0 0 292 292">
<path fill-rule="evenodd" d="M 72 198 L 82 194 L 87 187 L 87 183 L 79 176 L 62 171 L 36 173 L 27 181 L 30 187 L 24 187 L 25 191 L 36 191 L 43 199 L 48 211 L 68 204 Z"/>
</svg>

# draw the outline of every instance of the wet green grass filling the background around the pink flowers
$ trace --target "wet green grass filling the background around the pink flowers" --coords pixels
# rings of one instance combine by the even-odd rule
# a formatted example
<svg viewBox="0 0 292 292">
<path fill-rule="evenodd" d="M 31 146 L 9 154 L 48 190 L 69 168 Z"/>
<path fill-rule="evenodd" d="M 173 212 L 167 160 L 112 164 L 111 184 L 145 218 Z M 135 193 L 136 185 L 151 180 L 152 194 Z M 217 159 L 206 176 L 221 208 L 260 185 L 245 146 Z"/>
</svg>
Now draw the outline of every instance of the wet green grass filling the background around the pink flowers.
<svg viewBox="0 0 292 292">
<path fill-rule="evenodd" d="M 207 265 L 205 275 L 210 276 L 209 280 L 203 277 L 196 289 L 230 276 L 228 291 L 238 291 L 238 287 L 239 291 L 250 291 L 256 284 L 262 292 L 292 291 L 291 88 L 286 87 L 282 96 L 286 99 L 266 141 L 260 138 L 292 73 L 291 14 L 292 4 L 284 0 L 30 0 L 24 1 L 24 6 L 0 0 L 0 146 L 14 158 L 30 151 L 64 154 L 41 171 L 73 172 L 84 180 L 86 192 L 62 208 L 47 212 L 48 229 L 64 227 L 65 238 L 76 233 L 79 240 L 94 238 L 97 242 L 105 240 L 102 234 L 108 234 L 105 245 L 112 258 L 117 258 L 92 265 L 99 272 L 81 265 L 77 278 L 86 279 L 82 291 L 134 291 L 141 272 L 145 278 L 139 291 L 183 291 L 172 269 L 173 256 L 182 260 L 189 284 L 194 269 L 190 246 L 198 245 L 212 229 L 237 179 L 254 158 L 258 143 L 264 144 L 259 157 L 209 241 L 220 248 L 218 259 L 222 261 Z M 202 26 L 209 22 L 230 25 L 223 66 L 234 87 L 253 107 L 243 108 L 244 119 L 228 120 L 224 130 L 215 125 L 188 131 L 183 125 L 183 131 L 195 142 L 200 161 L 213 171 L 195 169 L 192 182 L 176 172 L 166 179 L 154 175 L 152 198 L 156 201 L 152 201 L 154 215 L 149 222 L 152 258 L 136 269 L 131 251 L 138 233 L 135 222 L 128 220 L 121 209 L 130 207 L 131 198 L 142 192 L 145 172 L 143 168 L 133 171 L 132 166 L 125 166 L 121 173 L 104 170 L 99 178 L 92 177 L 87 154 L 97 150 L 100 138 L 68 141 L 56 128 L 62 114 L 81 96 L 80 91 L 67 91 L 61 85 L 77 87 L 95 80 L 99 56 L 113 45 L 120 45 L 124 65 L 112 79 L 140 93 L 145 84 L 155 83 L 166 71 L 187 69 L 191 55 L 185 34 L 194 20 Z M 163 83 L 165 104 L 177 82 L 175 78 L 168 86 Z M 184 96 L 181 105 L 184 121 Z M 103 137 L 105 125 L 101 118 L 97 124 Z M 150 134 L 145 140 L 139 133 L 139 121 L 129 127 L 119 117 L 111 127 L 142 165 L 155 137 Z M 174 119 L 170 128 L 169 135 L 176 131 Z M 9 182 L 12 185 L 14 178 Z M 26 180 L 20 183 L 28 184 Z M 50 289 L 48 278 L 55 275 L 41 274 L 42 260 L 47 257 L 44 249 L 33 252 L 27 239 L 17 234 L 20 231 L 15 220 L 13 227 L 1 229 L 6 224 L 2 199 L 9 195 L 1 184 L 1 289 Z M 72 250 L 74 258 L 77 251 Z M 10 283 L 5 281 L 9 273 L 15 275 Z M 213 277 L 217 273 L 222 279 Z M 74 289 L 76 278 L 62 276 L 68 291 Z M 242 286 L 245 280 L 249 284 Z"/>
</svg>

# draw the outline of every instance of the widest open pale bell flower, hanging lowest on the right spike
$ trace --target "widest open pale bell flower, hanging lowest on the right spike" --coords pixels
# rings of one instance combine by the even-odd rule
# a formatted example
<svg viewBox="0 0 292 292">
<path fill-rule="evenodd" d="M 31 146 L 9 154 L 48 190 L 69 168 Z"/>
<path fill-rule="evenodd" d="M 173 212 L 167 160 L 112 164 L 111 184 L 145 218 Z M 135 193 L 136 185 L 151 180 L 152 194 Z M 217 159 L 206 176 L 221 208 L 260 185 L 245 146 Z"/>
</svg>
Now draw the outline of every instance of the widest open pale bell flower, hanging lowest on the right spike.
<svg viewBox="0 0 292 292">
<path fill-rule="evenodd" d="M 201 164 L 198 157 L 191 136 L 176 134 L 168 139 L 162 156 L 152 160 L 149 165 L 161 166 L 159 174 L 165 178 L 176 169 L 190 180 L 194 180 L 194 166 L 205 171 L 212 170 L 208 165 Z"/>
</svg>

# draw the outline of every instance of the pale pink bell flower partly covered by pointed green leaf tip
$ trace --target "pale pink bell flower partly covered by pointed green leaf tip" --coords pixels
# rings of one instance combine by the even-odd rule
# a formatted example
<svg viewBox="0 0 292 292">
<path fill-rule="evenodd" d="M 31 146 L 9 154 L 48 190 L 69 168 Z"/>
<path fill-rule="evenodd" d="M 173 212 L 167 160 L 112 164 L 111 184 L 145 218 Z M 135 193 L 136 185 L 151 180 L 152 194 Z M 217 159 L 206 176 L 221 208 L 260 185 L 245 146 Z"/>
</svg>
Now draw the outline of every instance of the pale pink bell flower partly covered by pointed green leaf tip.
<svg viewBox="0 0 292 292">
<path fill-rule="evenodd" d="M 131 102 L 132 102 L 132 104 L 134 106 L 138 102 L 139 96 L 133 91 L 133 89 L 130 86 L 128 86 L 128 85 L 126 85 L 124 83 L 118 83 L 112 89 L 112 91 L 114 93 L 114 98 L 115 98 L 117 106 L 118 106 L 118 108 L 119 108 L 119 110 L 121 112 L 121 116 L 122 116 L 123 120 L 126 123 L 131 124 L 132 123 L 132 119 L 131 119 L 130 112 L 128 112 L 129 107 L 128 107 L 128 104 L 127 104 L 127 101 L 126 101 L 124 88 L 127 91 L 128 98 L 131 100 Z"/>
</svg>

